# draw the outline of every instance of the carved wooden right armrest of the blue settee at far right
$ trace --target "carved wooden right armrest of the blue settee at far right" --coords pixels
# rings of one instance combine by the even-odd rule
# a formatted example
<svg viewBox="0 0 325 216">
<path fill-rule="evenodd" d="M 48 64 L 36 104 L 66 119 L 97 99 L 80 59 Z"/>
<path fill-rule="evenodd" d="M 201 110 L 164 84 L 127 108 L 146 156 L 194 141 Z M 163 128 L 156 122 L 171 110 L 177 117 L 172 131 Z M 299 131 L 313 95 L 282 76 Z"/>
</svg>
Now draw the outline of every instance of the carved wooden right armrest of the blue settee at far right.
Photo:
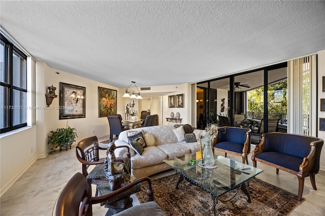
<svg viewBox="0 0 325 216">
<path fill-rule="evenodd" d="M 317 157 L 319 157 L 317 156 L 317 146 L 320 146 L 319 149 L 321 149 L 322 145 L 322 140 L 317 140 L 310 143 L 310 153 L 307 157 L 304 157 L 303 162 L 299 166 L 299 172 L 308 174 L 313 169 L 315 161 L 317 160 Z"/>
</svg>

